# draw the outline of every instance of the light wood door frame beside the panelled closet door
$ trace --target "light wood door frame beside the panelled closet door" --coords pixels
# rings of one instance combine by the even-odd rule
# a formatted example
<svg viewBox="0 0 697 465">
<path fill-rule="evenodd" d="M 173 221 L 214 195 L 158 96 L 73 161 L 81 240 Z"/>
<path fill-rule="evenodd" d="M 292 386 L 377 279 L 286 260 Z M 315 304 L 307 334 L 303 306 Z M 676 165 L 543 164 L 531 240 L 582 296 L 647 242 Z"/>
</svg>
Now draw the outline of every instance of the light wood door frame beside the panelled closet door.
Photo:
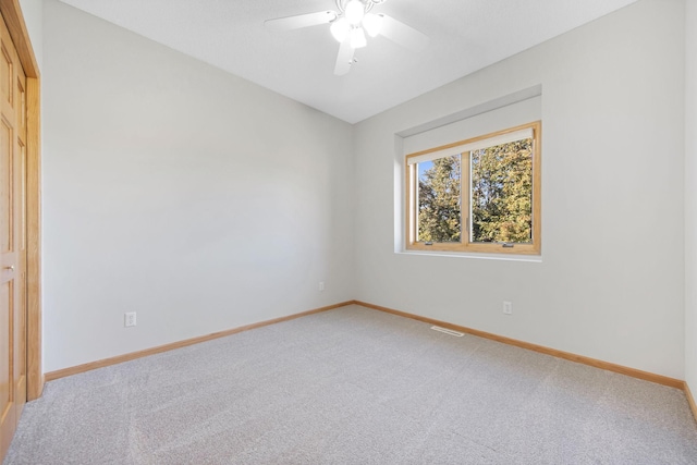
<svg viewBox="0 0 697 465">
<path fill-rule="evenodd" d="M 26 74 L 26 399 L 44 392 L 41 370 L 41 82 L 19 0 L 0 0 L 0 14 Z"/>
</svg>

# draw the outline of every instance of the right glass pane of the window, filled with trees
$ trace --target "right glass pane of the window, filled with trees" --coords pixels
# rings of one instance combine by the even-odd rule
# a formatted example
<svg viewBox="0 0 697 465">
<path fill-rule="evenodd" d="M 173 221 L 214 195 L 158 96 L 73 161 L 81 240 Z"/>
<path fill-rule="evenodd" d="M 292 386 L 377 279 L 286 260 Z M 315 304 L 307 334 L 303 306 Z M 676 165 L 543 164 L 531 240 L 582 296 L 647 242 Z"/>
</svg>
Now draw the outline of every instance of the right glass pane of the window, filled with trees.
<svg viewBox="0 0 697 465">
<path fill-rule="evenodd" d="M 472 242 L 533 242 L 533 139 L 470 152 Z"/>
</svg>

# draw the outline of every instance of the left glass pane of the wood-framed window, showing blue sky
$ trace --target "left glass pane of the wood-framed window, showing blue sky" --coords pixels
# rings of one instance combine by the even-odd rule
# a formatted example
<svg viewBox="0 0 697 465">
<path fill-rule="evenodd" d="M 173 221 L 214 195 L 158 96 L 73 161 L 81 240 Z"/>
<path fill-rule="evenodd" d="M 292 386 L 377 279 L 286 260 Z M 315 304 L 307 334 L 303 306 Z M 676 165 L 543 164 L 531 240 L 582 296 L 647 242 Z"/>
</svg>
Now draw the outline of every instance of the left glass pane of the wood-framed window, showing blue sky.
<svg viewBox="0 0 697 465">
<path fill-rule="evenodd" d="M 419 242 L 460 242 L 460 155 L 417 164 Z"/>
</svg>

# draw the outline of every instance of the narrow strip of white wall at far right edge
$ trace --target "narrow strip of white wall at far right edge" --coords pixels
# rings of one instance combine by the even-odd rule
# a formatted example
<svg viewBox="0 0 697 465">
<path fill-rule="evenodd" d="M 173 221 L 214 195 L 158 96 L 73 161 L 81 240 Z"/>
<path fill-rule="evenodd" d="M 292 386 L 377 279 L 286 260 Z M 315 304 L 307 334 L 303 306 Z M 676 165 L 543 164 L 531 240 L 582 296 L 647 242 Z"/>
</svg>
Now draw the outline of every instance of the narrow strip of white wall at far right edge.
<svg viewBox="0 0 697 465">
<path fill-rule="evenodd" d="M 697 0 L 685 19 L 685 380 L 697 394 Z"/>
</svg>

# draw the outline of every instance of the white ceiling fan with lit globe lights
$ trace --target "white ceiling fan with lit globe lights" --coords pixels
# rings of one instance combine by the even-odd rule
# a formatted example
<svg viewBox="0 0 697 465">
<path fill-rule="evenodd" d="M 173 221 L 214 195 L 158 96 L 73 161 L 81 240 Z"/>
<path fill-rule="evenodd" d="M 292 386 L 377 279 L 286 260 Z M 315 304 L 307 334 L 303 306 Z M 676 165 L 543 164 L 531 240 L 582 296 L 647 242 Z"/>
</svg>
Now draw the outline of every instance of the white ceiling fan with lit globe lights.
<svg viewBox="0 0 697 465">
<path fill-rule="evenodd" d="M 303 27 L 330 24 L 331 35 L 341 44 L 334 66 L 334 74 L 342 76 L 351 70 L 355 62 L 354 53 L 367 45 L 366 34 L 378 35 L 406 47 L 413 51 L 423 50 L 428 37 L 415 28 L 388 16 L 372 13 L 375 5 L 386 0 L 335 0 L 338 11 L 318 11 L 288 17 L 267 20 L 264 24 L 274 30 L 291 30 Z"/>
</svg>

